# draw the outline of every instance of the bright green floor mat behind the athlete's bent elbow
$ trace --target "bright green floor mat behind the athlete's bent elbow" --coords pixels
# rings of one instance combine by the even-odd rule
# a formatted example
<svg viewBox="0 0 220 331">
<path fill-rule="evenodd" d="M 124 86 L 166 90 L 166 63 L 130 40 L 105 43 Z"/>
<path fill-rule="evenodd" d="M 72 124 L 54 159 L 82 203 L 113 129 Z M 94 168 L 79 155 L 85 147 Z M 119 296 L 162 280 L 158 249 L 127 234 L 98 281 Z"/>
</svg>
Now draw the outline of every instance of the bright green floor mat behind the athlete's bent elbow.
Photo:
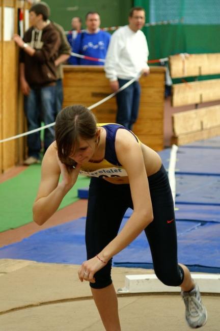
<svg viewBox="0 0 220 331">
<path fill-rule="evenodd" d="M 32 222 L 32 206 L 37 195 L 41 164 L 33 164 L 16 177 L 0 184 L 0 232 Z M 77 190 L 89 186 L 90 179 L 79 176 L 59 209 L 78 200 Z"/>
</svg>

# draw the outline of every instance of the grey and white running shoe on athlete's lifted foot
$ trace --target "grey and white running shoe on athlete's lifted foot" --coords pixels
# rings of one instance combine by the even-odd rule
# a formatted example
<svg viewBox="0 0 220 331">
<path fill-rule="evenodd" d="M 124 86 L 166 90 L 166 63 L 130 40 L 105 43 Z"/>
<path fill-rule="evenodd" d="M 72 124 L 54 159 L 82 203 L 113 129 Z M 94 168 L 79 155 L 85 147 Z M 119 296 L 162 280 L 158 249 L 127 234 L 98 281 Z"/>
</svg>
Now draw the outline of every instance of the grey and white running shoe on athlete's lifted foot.
<svg viewBox="0 0 220 331">
<path fill-rule="evenodd" d="M 188 325 L 191 328 L 205 325 L 207 311 L 201 300 L 198 285 L 196 284 L 195 288 L 190 292 L 181 291 L 181 295 L 185 304 L 185 318 Z"/>
</svg>

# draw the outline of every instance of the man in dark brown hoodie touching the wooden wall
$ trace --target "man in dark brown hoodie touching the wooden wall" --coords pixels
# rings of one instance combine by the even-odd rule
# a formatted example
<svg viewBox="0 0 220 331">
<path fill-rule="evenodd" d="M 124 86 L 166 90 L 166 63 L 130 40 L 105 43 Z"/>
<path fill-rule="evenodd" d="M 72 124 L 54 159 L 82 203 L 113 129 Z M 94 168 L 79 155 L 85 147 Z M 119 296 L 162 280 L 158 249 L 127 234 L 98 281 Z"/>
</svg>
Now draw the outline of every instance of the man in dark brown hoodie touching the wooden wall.
<svg viewBox="0 0 220 331">
<path fill-rule="evenodd" d="M 23 40 L 15 35 L 14 41 L 20 51 L 20 84 L 24 94 L 24 111 L 28 120 L 28 130 L 55 121 L 56 106 L 56 65 L 60 48 L 60 35 L 48 21 L 48 8 L 41 3 L 30 9 L 30 24 Z M 54 140 L 54 129 L 44 132 L 44 152 Z M 40 131 L 28 135 L 28 158 L 24 164 L 40 162 Z"/>
</svg>

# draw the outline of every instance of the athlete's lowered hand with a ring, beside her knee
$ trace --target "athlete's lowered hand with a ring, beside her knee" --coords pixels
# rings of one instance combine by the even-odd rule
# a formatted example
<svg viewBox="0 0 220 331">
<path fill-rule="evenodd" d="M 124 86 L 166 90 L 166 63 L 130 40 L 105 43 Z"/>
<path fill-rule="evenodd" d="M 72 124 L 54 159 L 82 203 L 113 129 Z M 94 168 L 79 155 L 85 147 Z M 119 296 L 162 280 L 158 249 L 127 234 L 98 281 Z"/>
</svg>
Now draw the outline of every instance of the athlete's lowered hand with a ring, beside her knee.
<svg viewBox="0 0 220 331">
<path fill-rule="evenodd" d="M 95 256 L 94 258 L 82 263 L 78 270 L 78 278 L 81 282 L 88 281 L 90 283 L 95 283 L 94 274 L 103 268 L 106 262 L 102 262 Z"/>
</svg>

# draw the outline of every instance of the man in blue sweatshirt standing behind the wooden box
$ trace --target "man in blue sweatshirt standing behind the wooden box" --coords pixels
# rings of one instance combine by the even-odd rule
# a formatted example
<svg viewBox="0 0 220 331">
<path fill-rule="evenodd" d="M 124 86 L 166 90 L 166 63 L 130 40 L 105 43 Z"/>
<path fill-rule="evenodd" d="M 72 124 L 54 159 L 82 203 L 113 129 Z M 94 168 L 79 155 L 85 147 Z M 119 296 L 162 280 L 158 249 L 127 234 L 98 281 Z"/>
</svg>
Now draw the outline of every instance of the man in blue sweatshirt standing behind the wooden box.
<svg viewBox="0 0 220 331">
<path fill-rule="evenodd" d="M 87 30 L 77 35 L 72 47 L 74 53 L 97 59 L 105 59 L 111 35 L 99 29 L 100 23 L 99 13 L 87 13 Z M 76 61 L 79 65 L 103 65 L 103 62 L 88 59 L 77 59 Z"/>
</svg>

